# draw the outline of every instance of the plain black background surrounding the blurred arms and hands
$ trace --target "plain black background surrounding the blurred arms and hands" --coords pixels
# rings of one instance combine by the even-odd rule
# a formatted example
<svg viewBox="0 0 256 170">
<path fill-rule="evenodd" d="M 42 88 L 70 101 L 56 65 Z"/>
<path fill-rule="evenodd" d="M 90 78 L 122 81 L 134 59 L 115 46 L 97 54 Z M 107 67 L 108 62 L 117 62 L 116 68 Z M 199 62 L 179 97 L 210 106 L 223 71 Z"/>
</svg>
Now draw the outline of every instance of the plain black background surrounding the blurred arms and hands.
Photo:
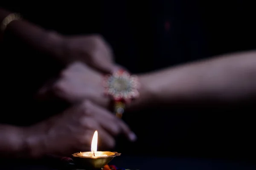
<svg viewBox="0 0 256 170">
<path fill-rule="evenodd" d="M 26 5 L 23 1 L 4 6 L 62 34 L 102 34 L 111 44 L 116 62 L 132 73 L 255 49 L 256 44 L 256 12 L 249 0 L 94 0 L 55 5 L 35 1 Z M 3 108 L 8 110 L 1 121 L 29 125 L 60 111 L 62 105 L 33 100 L 35 91 L 60 69 L 55 61 L 20 45 L 10 35 L 1 51 L 2 97 L 7 101 Z M 15 62 L 13 56 L 17 56 Z M 124 120 L 137 133 L 138 141 L 130 144 L 120 137 L 116 150 L 254 161 L 254 114 L 253 104 L 173 105 L 126 113 Z"/>
</svg>

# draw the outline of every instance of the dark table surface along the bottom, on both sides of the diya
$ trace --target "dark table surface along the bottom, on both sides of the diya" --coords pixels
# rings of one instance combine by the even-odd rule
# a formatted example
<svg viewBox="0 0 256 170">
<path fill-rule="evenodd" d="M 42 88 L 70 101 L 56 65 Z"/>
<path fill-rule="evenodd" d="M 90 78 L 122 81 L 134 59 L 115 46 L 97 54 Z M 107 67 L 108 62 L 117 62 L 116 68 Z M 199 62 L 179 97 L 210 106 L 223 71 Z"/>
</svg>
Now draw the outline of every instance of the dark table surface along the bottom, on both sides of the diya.
<svg viewBox="0 0 256 170">
<path fill-rule="evenodd" d="M 7 162 L 6 162 L 7 163 Z M 111 161 L 117 167 L 131 170 L 256 170 L 256 165 L 212 159 L 119 156 Z M 1 170 L 60 170 L 44 163 L 15 163 L 2 166 Z"/>
</svg>

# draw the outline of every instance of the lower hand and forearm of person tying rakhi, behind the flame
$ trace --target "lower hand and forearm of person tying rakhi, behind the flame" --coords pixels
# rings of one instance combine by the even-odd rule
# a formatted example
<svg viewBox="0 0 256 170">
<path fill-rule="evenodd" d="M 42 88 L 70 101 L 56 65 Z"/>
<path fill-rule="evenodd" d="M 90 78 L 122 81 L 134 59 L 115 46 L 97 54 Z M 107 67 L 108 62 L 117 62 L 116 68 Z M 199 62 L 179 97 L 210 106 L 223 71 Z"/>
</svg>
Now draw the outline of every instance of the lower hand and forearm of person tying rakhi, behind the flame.
<svg viewBox="0 0 256 170">
<path fill-rule="evenodd" d="M 0 125 L 0 156 L 40 158 L 90 151 L 95 130 L 99 133 L 99 146 L 108 149 L 115 146 L 114 137 L 120 134 L 132 142 L 136 140 L 122 120 L 104 108 L 84 101 L 30 127 Z"/>
</svg>

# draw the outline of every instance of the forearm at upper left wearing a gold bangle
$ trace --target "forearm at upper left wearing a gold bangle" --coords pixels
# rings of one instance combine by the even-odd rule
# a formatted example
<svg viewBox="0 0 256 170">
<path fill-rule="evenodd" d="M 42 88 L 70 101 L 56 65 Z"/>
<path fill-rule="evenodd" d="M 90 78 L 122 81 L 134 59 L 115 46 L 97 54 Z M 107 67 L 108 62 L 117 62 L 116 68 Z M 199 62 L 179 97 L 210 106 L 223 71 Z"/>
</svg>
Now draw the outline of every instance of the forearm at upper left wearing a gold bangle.
<svg viewBox="0 0 256 170">
<path fill-rule="evenodd" d="M 0 8 L 0 22 L 9 14 L 11 14 L 10 11 Z M 55 53 L 55 49 L 58 49 L 56 45 L 58 45 L 60 35 L 35 26 L 26 20 L 13 20 L 8 24 L 4 32 L 0 34 L 6 34 L 7 32 L 39 51 L 53 54 Z M 0 37 L 3 37 L 3 35 Z"/>
</svg>

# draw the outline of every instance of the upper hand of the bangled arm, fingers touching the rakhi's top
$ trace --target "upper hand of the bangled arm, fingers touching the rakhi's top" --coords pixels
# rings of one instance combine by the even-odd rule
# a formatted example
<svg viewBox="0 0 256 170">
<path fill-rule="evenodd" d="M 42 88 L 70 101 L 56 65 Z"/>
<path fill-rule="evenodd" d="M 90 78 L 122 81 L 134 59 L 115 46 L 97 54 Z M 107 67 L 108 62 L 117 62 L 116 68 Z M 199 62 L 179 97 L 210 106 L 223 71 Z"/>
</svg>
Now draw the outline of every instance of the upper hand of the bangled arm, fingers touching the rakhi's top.
<svg viewBox="0 0 256 170">
<path fill-rule="evenodd" d="M 62 37 L 58 40 L 55 55 L 65 63 L 81 61 L 105 73 L 111 73 L 113 53 L 99 35 Z"/>
</svg>

